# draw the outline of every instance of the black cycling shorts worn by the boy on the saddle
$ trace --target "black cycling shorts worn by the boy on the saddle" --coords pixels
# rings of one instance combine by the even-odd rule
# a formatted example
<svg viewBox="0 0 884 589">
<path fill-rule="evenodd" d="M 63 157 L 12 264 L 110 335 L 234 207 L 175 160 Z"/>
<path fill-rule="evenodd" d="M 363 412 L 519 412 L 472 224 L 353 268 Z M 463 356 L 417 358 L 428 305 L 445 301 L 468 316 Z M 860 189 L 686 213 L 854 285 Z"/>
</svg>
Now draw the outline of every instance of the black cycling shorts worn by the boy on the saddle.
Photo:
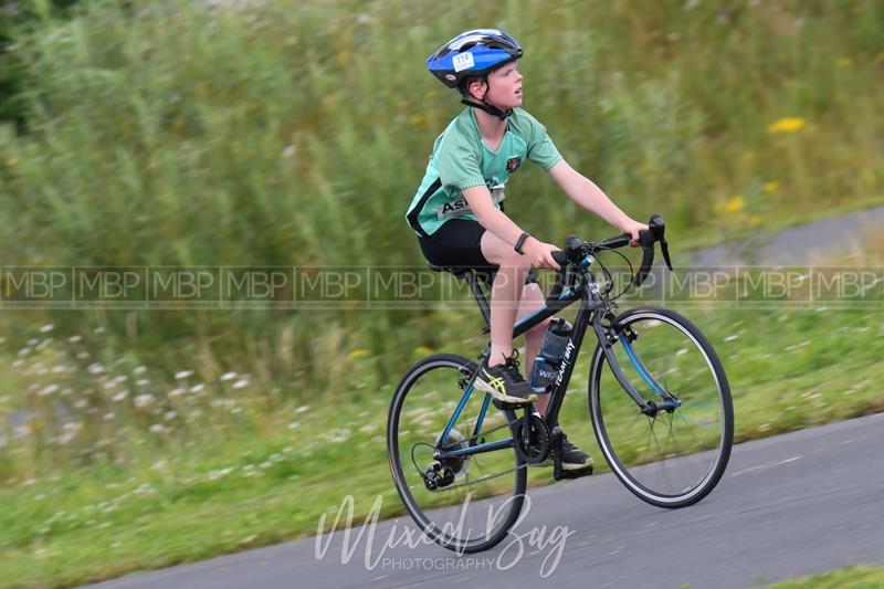
<svg viewBox="0 0 884 589">
<path fill-rule="evenodd" d="M 452 219 L 432 235 L 418 236 L 418 242 L 421 244 L 423 256 L 431 264 L 484 271 L 493 281 L 499 266 L 482 255 L 482 234 L 485 231 L 485 228 L 473 219 Z M 537 282 L 537 278 L 534 272 L 528 272 L 525 284 L 533 282 Z"/>
</svg>

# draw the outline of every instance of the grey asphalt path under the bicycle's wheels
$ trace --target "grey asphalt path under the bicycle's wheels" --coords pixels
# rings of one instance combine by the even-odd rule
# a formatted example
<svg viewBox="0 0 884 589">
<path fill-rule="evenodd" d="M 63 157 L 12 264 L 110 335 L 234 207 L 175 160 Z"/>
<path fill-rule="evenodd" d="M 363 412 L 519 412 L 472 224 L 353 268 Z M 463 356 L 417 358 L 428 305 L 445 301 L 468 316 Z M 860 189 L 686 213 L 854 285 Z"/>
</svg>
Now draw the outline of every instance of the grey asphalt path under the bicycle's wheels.
<svg viewBox="0 0 884 589">
<path fill-rule="evenodd" d="M 401 539 L 414 529 L 400 517 L 373 534 L 366 528 L 360 540 L 357 520 L 349 550 L 338 530 L 318 545 L 303 539 L 94 587 L 757 587 L 884 564 L 882 448 L 884 414 L 738 444 L 718 487 L 675 511 L 642 503 L 613 475 L 561 481 L 529 490 L 527 516 L 511 537 L 461 559 L 434 544 L 385 548 L 391 533 Z"/>
</svg>

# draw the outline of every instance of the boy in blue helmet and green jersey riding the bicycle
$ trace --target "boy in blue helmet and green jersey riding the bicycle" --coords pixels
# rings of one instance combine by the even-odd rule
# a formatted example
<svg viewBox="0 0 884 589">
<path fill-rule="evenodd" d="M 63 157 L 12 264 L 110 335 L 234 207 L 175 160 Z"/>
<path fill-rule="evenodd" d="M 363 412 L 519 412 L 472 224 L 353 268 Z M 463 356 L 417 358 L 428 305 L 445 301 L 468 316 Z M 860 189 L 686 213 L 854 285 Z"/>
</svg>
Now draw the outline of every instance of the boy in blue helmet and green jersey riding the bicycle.
<svg viewBox="0 0 884 589">
<path fill-rule="evenodd" d="M 532 280 L 532 265 L 558 270 L 558 250 L 523 231 L 503 212 L 504 187 L 525 158 L 547 170 L 582 208 L 632 235 L 648 225 L 633 221 L 594 183 L 575 171 L 556 149 L 546 128 L 522 109 L 523 76 L 516 65 L 522 48 L 495 29 L 455 36 L 427 60 L 430 73 L 457 88 L 465 108 L 433 144 L 418 193 L 406 218 L 418 234 L 424 257 L 445 267 L 493 271 L 491 355 L 475 387 L 511 406 L 548 398 L 534 392 L 518 370 L 513 324 L 537 308 L 544 295 Z M 526 281 L 527 278 L 527 281 Z M 527 372 L 540 348 L 548 322 L 525 334 Z M 564 438 L 564 435 L 562 435 Z M 562 467 L 581 470 L 592 459 L 562 439 Z"/>
</svg>

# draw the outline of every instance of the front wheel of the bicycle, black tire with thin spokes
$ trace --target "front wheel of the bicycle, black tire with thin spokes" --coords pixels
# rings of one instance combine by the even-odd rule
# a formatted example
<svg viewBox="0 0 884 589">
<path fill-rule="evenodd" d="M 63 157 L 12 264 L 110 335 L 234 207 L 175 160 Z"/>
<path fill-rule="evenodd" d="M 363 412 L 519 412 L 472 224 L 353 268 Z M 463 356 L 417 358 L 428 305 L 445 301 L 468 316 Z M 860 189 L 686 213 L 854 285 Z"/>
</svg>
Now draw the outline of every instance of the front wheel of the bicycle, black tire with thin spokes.
<svg viewBox="0 0 884 589">
<path fill-rule="evenodd" d="M 618 381 L 601 346 L 592 355 L 589 409 L 608 464 L 641 499 L 684 507 L 722 478 L 734 439 L 734 407 L 724 368 L 709 341 L 682 315 L 639 307 L 613 327 L 623 376 L 648 401 L 643 413 Z"/>
</svg>

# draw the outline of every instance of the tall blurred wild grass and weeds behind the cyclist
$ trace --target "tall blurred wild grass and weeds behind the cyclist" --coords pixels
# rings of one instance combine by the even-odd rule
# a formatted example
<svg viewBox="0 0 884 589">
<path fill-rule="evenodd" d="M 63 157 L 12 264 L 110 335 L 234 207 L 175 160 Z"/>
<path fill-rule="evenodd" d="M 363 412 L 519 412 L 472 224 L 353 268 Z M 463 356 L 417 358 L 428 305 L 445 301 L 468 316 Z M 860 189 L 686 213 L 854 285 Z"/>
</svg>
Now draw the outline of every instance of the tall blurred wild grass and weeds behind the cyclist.
<svg viewBox="0 0 884 589">
<path fill-rule="evenodd" d="M 461 108 L 423 59 L 480 25 L 525 46 L 526 107 L 566 158 L 636 219 L 663 212 L 676 248 L 882 200 L 873 0 L 511 0 L 469 13 L 429 0 L 94 1 L 18 33 L 30 126 L 0 127 L 3 262 L 420 265 L 403 213 Z M 537 170 L 509 193 L 507 212 L 547 241 L 613 231 Z M 463 350 L 476 327 L 452 311 L 8 312 L 11 354 L 29 351 L 4 370 L 0 404 L 39 416 L 45 439 L 6 469 L 21 481 L 134 460 L 129 448 L 213 427 L 260 429 L 305 399 L 386 395 L 415 349 Z M 204 388 L 173 395 L 188 370 Z M 249 387 L 231 390 L 231 372 Z M 64 429 L 77 403 L 86 438 Z M 206 421 L 182 421 L 197 408 Z M 108 412 L 124 433 L 103 438 Z"/>
</svg>

